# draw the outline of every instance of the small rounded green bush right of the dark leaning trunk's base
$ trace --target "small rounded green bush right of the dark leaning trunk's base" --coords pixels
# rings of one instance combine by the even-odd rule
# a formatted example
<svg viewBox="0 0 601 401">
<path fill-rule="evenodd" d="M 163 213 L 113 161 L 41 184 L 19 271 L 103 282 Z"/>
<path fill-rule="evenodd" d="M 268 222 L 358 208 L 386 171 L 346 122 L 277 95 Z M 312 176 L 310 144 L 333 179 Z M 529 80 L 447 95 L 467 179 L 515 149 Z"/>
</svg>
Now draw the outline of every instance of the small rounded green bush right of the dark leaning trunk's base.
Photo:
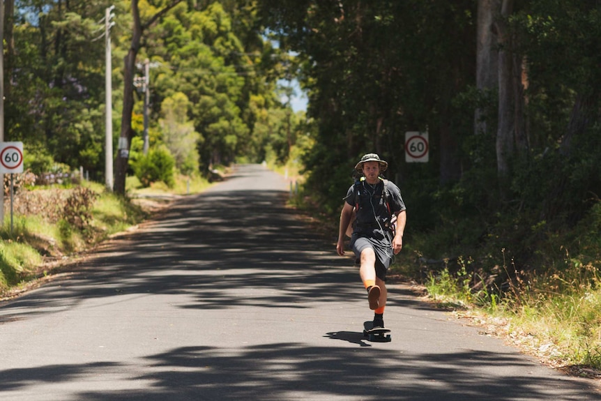
<svg viewBox="0 0 601 401">
<path fill-rule="evenodd" d="M 175 160 L 165 147 L 150 149 L 146 156 L 137 158 L 132 167 L 144 187 L 157 181 L 162 181 L 169 187 L 174 184 Z"/>
</svg>

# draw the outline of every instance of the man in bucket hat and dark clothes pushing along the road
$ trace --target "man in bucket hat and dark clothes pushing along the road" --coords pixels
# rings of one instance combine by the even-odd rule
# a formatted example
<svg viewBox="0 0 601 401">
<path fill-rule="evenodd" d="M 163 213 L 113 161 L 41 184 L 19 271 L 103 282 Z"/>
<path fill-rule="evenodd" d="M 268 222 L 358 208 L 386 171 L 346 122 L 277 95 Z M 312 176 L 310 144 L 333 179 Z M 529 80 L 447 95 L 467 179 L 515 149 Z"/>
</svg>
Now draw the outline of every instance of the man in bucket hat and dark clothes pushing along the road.
<svg viewBox="0 0 601 401">
<path fill-rule="evenodd" d="M 353 233 L 349 248 L 360 262 L 359 275 L 367 289 L 367 301 L 374 310 L 373 327 L 384 327 L 386 271 L 403 247 L 406 208 L 395 183 L 381 178 L 388 162 L 376 153 L 367 153 L 356 164 L 362 174 L 344 197 L 336 251 L 344 256 L 344 234 L 353 213 Z"/>
</svg>

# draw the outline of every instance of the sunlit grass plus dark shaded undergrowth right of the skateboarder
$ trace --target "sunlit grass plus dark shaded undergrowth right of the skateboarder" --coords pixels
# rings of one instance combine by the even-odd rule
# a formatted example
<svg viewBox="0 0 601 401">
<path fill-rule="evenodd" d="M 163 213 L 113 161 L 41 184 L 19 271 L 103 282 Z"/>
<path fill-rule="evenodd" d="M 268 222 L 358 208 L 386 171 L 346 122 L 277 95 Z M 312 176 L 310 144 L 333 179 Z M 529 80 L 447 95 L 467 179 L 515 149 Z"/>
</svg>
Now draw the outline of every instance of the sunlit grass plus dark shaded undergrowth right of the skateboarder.
<svg viewBox="0 0 601 401">
<path fill-rule="evenodd" d="M 478 225 L 468 219 L 410 230 L 393 271 L 487 333 L 556 368 L 591 368 L 601 377 L 601 203 L 569 229 L 533 221 L 519 234 L 505 220 L 486 236 L 463 229 Z"/>
</svg>

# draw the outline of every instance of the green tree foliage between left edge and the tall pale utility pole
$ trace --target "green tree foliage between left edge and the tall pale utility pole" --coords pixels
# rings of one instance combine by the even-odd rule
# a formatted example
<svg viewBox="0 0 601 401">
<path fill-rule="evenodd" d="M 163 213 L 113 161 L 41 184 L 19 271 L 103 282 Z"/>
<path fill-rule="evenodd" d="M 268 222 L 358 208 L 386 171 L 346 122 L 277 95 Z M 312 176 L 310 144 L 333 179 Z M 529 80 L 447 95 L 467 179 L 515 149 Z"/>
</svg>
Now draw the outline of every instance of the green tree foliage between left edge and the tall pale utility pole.
<svg viewBox="0 0 601 401">
<path fill-rule="evenodd" d="M 96 127 L 103 126 L 104 50 L 90 45 L 102 10 L 90 2 L 15 7 L 12 39 L 19 51 L 5 55 L 6 137 L 33 151 L 36 173 L 50 156 L 73 168 L 101 167 L 99 152 L 85 149 L 102 139 Z"/>
</svg>

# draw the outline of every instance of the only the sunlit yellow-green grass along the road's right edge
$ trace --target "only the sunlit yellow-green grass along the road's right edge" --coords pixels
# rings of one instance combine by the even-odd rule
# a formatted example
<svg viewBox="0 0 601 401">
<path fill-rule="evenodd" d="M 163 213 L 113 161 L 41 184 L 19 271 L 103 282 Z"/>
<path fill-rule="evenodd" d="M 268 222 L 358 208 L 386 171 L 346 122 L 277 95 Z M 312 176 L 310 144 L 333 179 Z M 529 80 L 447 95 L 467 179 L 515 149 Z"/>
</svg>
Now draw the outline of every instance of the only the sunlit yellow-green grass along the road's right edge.
<svg viewBox="0 0 601 401">
<path fill-rule="evenodd" d="M 493 324 L 495 334 L 557 367 L 601 370 L 601 274 L 595 264 L 570 259 L 542 275 L 521 272 L 503 292 L 482 285 L 462 259 L 459 266 L 427 275 L 424 286 L 434 303 Z"/>
</svg>

